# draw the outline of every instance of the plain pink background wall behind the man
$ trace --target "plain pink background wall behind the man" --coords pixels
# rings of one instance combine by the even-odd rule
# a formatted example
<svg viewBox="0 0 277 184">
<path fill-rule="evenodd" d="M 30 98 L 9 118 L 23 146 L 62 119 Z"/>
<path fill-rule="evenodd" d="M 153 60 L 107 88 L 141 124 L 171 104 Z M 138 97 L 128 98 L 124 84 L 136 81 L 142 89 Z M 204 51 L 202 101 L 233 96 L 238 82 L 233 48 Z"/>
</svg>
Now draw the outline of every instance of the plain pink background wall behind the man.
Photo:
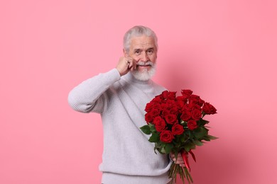
<svg viewBox="0 0 277 184">
<path fill-rule="evenodd" d="M 1 1 L 0 183 L 100 183 L 100 117 L 71 110 L 67 94 L 116 66 L 134 25 L 158 35 L 154 80 L 218 109 L 207 120 L 219 139 L 190 160 L 195 183 L 277 183 L 276 5 Z"/>
</svg>

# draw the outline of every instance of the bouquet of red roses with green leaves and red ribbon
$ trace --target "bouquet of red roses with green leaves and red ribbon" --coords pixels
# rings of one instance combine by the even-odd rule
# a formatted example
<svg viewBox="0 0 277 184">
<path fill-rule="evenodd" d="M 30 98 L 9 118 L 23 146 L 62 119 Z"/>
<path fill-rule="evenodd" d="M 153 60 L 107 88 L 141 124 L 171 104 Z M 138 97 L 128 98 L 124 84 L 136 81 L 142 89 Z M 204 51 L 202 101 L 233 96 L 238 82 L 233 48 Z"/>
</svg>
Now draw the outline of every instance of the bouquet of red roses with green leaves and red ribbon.
<svg viewBox="0 0 277 184">
<path fill-rule="evenodd" d="M 151 102 L 146 104 L 145 120 L 147 125 L 141 127 L 145 134 L 151 134 L 149 142 L 155 143 L 154 151 L 161 154 L 173 152 L 175 158 L 181 154 L 185 162 L 185 167 L 173 163 L 170 167 L 169 178 L 176 181 L 177 174 L 185 183 L 192 182 L 190 176 L 190 165 L 188 155 L 195 161 L 192 149 L 195 146 L 202 146 L 203 141 L 217 139 L 208 134 L 207 120 L 203 120 L 205 115 L 217 113 L 216 108 L 205 102 L 192 91 L 182 90 L 182 96 L 176 96 L 176 92 L 163 91 Z M 172 182 L 173 182 L 172 180 Z"/>
</svg>

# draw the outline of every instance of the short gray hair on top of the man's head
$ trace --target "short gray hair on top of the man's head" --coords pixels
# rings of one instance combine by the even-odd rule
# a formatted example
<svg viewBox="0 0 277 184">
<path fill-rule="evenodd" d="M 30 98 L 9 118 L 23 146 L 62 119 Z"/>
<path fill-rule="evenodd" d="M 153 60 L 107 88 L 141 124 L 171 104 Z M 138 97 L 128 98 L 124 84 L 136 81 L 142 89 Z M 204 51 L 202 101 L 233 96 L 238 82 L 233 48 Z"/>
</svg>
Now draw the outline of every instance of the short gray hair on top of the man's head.
<svg viewBox="0 0 277 184">
<path fill-rule="evenodd" d="M 142 35 L 146 35 L 148 37 L 153 38 L 155 41 L 156 48 L 158 50 L 158 38 L 156 36 L 156 33 L 154 33 L 153 30 L 151 30 L 150 28 L 147 28 L 143 25 L 136 25 L 125 33 L 124 39 L 123 39 L 124 50 L 126 50 L 126 52 L 129 52 L 131 38 L 142 36 Z"/>
</svg>

